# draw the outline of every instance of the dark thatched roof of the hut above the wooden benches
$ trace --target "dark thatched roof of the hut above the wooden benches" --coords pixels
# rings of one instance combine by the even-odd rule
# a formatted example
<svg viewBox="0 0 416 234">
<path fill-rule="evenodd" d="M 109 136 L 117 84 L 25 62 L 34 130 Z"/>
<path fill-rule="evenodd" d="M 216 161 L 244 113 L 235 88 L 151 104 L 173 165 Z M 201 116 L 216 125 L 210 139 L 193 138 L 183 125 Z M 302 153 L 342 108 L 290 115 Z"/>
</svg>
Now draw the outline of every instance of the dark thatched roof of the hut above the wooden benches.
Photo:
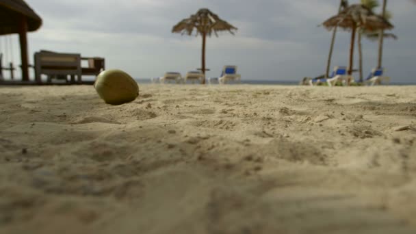
<svg viewBox="0 0 416 234">
<path fill-rule="evenodd" d="M 18 33 L 21 15 L 27 17 L 27 30 L 35 31 L 42 19 L 23 0 L 0 0 L 0 35 Z"/>
</svg>

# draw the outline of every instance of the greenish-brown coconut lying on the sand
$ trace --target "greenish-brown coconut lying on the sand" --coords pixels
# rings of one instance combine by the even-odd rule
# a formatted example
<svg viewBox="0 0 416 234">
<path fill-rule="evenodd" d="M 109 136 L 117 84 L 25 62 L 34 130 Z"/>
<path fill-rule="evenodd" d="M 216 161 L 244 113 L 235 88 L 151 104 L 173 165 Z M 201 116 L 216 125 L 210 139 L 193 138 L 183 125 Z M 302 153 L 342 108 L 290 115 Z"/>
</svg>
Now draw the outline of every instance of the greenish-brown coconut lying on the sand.
<svg viewBox="0 0 416 234">
<path fill-rule="evenodd" d="M 95 79 L 94 88 L 105 103 L 120 105 L 139 96 L 138 83 L 122 70 L 104 70 Z"/>
</svg>

